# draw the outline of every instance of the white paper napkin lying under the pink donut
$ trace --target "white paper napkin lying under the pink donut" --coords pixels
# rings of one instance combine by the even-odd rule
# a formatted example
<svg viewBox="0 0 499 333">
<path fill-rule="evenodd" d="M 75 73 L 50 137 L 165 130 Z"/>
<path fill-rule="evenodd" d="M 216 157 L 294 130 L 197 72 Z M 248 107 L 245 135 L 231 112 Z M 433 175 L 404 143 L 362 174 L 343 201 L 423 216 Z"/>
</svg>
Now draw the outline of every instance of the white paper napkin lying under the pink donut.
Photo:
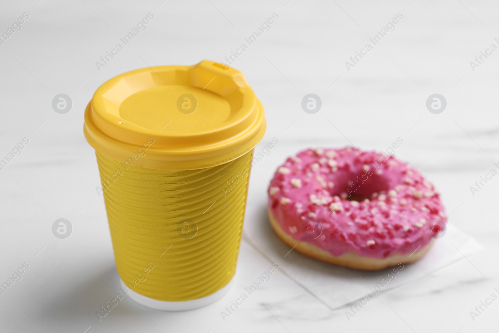
<svg viewBox="0 0 499 333">
<path fill-rule="evenodd" d="M 397 274 L 394 274 L 393 268 L 377 272 L 354 271 L 314 260 L 297 251 L 289 252 L 290 248 L 277 238 L 269 225 L 266 196 L 251 198 L 243 237 L 269 261 L 277 262 L 281 272 L 331 310 L 363 299 L 367 294 L 376 295 L 377 291 L 386 291 L 414 281 L 484 250 L 474 238 L 451 223 L 447 225 L 444 237 L 436 240 L 422 259 L 413 264 L 405 264 Z M 376 286 L 378 287 L 375 288 Z"/>
</svg>

